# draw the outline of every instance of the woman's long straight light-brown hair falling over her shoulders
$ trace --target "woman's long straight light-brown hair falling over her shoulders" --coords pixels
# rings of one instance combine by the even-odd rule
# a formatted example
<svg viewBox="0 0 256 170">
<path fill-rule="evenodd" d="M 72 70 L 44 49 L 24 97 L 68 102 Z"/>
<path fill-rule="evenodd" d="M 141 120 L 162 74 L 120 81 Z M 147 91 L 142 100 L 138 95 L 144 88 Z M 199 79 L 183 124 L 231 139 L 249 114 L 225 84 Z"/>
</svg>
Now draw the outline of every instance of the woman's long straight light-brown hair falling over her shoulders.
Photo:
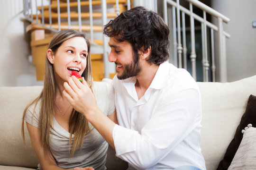
<svg viewBox="0 0 256 170">
<path fill-rule="evenodd" d="M 85 34 L 75 31 L 75 30 L 63 30 L 54 35 L 51 42 L 49 43 L 48 49 L 51 49 L 53 53 L 55 54 L 58 48 L 61 46 L 61 44 L 73 37 L 83 37 L 87 43 L 88 47 L 88 56 L 87 56 L 87 66 L 85 70 L 82 73 L 82 76 L 86 80 L 88 86 L 92 90 L 92 76 L 91 76 L 91 55 L 90 55 L 90 42 L 86 38 Z M 46 57 L 46 68 L 45 68 L 45 76 L 44 76 L 44 87 L 42 92 L 39 94 L 39 96 L 29 103 L 27 107 L 25 108 L 23 112 L 23 118 L 22 118 L 22 138 L 25 143 L 25 135 L 24 135 L 24 118 L 26 115 L 26 112 L 29 107 L 31 107 L 33 104 L 34 111 L 33 111 L 33 117 L 35 114 L 35 108 L 38 104 L 38 102 L 41 100 L 41 107 L 39 112 L 39 138 L 40 142 L 44 148 L 44 152 L 46 154 L 50 153 L 50 147 L 49 147 L 49 136 L 53 127 L 53 118 L 54 118 L 54 103 L 55 103 L 55 77 L 53 74 L 53 64 L 49 62 L 49 60 Z M 33 119 L 33 118 L 32 118 Z M 71 118 L 69 120 L 69 145 L 70 145 L 70 155 L 72 156 L 78 148 L 82 149 L 82 144 L 84 141 L 84 136 L 90 132 L 90 128 L 88 125 L 88 120 L 79 112 L 76 110 L 72 111 Z M 72 139 L 73 135 L 73 139 Z M 73 148 L 71 150 L 71 144 L 73 144 Z"/>
</svg>

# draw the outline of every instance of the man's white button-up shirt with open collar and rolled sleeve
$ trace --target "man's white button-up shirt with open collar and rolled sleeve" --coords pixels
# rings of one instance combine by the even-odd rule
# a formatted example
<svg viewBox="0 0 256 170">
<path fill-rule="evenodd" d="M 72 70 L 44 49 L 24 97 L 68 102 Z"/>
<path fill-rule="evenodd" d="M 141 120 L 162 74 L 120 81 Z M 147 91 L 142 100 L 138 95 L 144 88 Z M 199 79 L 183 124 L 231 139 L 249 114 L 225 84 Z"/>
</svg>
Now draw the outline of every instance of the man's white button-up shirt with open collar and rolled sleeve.
<svg viewBox="0 0 256 170">
<path fill-rule="evenodd" d="M 136 77 L 113 79 L 119 125 L 116 155 L 128 170 L 166 170 L 191 165 L 205 170 L 201 154 L 201 94 L 190 74 L 167 61 L 139 100 Z"/>
</svg>

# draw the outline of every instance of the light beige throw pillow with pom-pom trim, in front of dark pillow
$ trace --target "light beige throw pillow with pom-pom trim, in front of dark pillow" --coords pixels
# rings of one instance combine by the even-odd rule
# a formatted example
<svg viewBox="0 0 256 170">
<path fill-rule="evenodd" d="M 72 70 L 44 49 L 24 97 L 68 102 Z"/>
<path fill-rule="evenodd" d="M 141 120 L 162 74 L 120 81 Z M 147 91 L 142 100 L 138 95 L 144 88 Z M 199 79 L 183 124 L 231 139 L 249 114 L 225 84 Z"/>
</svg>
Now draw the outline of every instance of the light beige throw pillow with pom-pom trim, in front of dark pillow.
<svg viewBox="0 0 256 170">
<path fill-rule="evenodd" d="M 243 135 L 233 161 L 228 170 L 255 170 L 256 167 L 256 128 L 249 127 Z"/>
</svg>

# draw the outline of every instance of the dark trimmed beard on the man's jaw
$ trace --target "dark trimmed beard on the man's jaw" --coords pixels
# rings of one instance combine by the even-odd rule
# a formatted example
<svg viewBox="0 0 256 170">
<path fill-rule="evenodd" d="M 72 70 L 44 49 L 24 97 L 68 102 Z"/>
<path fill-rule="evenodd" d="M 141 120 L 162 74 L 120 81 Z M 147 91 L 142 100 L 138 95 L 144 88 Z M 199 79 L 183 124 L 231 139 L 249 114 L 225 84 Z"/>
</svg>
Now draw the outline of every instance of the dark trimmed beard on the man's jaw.
<svg viewBox="0 0 256 170">
<path fill-rule="evenodd" d="M 133 60 L 130 64 L 126 64 L 122 66 L 123 66 L 123 73 L 120 76 L 117 75 L 119 80 L 127 79 L 132 76 L 137 76 L 141 70 L 138 60 L 137 61 Z"/>
</svg>

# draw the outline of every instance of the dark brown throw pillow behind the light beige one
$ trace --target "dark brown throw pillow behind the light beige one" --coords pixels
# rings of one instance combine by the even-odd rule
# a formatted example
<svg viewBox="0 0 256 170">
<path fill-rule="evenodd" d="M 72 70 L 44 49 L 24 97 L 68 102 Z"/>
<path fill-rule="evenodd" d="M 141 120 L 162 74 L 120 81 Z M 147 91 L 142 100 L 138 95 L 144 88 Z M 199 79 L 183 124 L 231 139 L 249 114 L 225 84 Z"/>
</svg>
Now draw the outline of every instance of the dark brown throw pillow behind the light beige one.
<svg viewBox="0 0 256 170">
<path fill-rule="evenodd" d="M 256 127 L 256 96 L 254 95 L 249 96 L 246 111 L 241 118 L 235 136 L 230 142 L 223 160 L 219 162 L 217 170 L 228 170 L 243 138 L 241 131 L 247 127 L 248 124 L 252 124 L 253 127 Z"/>
</svg>

